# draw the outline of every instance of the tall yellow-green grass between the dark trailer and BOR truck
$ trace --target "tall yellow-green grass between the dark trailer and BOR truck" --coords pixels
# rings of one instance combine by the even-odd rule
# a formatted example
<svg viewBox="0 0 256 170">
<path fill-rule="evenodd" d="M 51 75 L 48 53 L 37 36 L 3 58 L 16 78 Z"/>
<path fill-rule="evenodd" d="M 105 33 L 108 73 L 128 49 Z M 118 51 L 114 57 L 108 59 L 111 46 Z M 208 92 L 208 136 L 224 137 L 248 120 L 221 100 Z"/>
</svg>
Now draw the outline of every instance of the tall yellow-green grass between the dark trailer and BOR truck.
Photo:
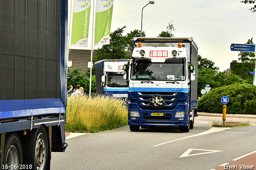
<svg viewBox="0 0 256 170">
<path fill-rule="evenodd" d="M 68 97 L 66 131 L 99 132 L 128 124 L 122 100 L 95 95 Z"/>
</svg>

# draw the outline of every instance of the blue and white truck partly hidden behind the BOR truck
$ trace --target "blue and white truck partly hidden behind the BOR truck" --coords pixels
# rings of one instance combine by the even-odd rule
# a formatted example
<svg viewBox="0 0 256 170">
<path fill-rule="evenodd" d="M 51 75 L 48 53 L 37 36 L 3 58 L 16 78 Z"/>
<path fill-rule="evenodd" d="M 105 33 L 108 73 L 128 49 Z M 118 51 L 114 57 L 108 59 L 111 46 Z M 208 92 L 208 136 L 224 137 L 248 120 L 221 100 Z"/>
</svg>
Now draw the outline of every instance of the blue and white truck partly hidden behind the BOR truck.
<svg viewBox="0 0 256 170">
<path fill-rule="evenodd" d="M 128 82 L 123 66 L 129 59 L 103 59 L 95 62 L 96 93 L 115 98 L 127 98 Z"/>
</svg>

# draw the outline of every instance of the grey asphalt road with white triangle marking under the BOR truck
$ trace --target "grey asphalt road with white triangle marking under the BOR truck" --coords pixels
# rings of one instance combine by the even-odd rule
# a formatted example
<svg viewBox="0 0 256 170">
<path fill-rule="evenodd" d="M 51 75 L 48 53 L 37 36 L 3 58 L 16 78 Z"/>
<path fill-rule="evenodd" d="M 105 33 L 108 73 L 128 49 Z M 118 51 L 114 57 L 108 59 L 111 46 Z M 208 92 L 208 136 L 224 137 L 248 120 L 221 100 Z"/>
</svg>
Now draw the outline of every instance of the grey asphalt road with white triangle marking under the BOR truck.
<svg viewBox="0 0 256 170">
<path fill-rule="evenodd" d="M 196 120 L 188 133 L 158 127 L 131 132 L 126 126 L 83 134 L 66 139 L 66 152 L 52 153 L 51 170 L 212 170 L 256 151 L 256 126 L 211 125 Z"/>
</svg>

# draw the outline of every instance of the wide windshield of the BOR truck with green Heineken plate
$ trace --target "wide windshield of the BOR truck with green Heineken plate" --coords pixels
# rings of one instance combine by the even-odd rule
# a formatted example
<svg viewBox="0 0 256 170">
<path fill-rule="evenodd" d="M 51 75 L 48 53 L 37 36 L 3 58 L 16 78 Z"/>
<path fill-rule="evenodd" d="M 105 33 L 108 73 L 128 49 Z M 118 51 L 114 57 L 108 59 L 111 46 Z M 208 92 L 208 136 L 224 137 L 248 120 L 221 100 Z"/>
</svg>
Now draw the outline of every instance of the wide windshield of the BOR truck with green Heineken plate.
<svg viewBox="0 0 256 170">
<path fill-rule="evenodd" d="M 132 65 L 132 80 L 175 80 L 186 79 L 185 63 L 134 63 Z"/>
</svg>

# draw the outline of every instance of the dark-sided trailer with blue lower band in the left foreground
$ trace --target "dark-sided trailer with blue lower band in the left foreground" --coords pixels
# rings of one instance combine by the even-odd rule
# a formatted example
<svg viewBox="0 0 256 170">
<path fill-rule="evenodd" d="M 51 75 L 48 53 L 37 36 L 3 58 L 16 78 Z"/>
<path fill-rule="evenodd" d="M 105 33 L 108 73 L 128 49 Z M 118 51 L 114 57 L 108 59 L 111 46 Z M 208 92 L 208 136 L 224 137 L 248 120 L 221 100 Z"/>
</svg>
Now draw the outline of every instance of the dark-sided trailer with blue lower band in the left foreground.
<svg viewBox="0 0 256 170">
<path fill-rule="evenodd" d="M 0 170 L 50 170 L 64 152 L 68 0 L 0 2 Z"/>
</svg>

